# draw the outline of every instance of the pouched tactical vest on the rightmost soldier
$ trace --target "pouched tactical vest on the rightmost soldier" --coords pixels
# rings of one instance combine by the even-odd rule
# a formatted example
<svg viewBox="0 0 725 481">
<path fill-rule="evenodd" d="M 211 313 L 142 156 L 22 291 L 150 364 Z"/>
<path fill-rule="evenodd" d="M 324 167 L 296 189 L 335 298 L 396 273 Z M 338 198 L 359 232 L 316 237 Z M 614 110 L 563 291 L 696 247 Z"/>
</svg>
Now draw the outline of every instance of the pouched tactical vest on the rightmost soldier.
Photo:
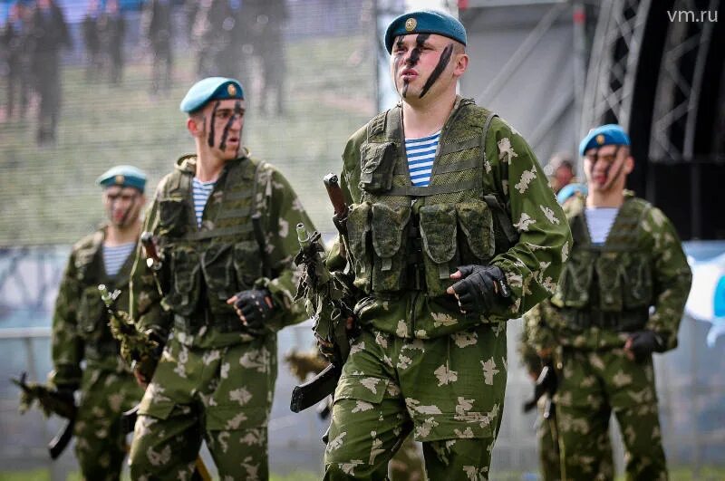
<svg viewBox="0 0 725 481">
<path fill-rule="evenodd" d="M 652 252 L 640 239 L 652 205 L 627 195 L 604 245 L 592 245 L 583 204 L 569 220 L 574 246 L 551 302 L 575 329 L 642 329 L 653 289 Z"/>
</svg>

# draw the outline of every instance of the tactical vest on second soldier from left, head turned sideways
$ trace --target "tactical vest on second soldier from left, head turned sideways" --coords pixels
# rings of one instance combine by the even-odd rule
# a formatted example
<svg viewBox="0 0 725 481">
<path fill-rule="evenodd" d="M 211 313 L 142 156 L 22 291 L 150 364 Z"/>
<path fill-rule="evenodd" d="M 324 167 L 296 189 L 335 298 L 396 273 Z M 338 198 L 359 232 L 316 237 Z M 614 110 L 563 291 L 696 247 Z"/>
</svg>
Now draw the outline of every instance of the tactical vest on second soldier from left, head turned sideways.
<svg viewBox="0 0 725 481">
<path fill-rule="evenodd" d="M 252 226 L 265 195 L 257 192 L 263 165 L 249 158 L 228 161 L 208 198 L 200 228 L 191 186 L 194 156 L 179 159 L 177 169 L 165 179 L 157 198 L 157 235 L 169 277 L 161 303 L 176 314 L 177 331 L 194 333 L 204 325 L 221 332 L 241 330 L 227 299 L 252 288 L 263 273 Z"/>
</svg>

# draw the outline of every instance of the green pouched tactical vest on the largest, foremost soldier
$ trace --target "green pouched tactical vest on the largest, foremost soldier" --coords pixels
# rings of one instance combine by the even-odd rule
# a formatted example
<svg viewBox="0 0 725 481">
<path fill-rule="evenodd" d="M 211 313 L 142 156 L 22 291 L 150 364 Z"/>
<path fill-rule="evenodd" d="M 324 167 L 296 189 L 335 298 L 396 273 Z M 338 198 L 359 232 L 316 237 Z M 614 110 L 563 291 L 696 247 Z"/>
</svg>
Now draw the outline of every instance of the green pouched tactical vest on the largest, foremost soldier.
<svg viewBox="0 0 725 481">
<path fill-rule="evenodd" d="M 401 107 L 368 123 L 360 147 L 362 197 L 347 220 L 356 287 L 440 296 L 459 265 L 486 265 L 516 242 L 501 197 L 483 191 L 486 135 L 495 116 L 473 101 L 457 101 L 427 187 L 411 185 Z"/>
</svg>

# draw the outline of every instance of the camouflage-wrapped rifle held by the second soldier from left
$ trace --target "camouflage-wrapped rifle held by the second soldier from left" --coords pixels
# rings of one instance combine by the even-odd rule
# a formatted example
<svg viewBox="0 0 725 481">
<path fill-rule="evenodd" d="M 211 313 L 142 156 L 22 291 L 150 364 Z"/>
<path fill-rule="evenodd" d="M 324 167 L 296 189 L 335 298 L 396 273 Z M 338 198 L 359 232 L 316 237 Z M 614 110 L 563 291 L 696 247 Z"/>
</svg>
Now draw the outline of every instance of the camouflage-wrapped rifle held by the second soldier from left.
<svg viewBox="0 0 725 481">
<path fill-rule="evenodd" d="M 151 257 L 148 260 L 150 259 Z M 116 301 L 121 291 L 116 290 L 109 293 L 105 284 L 100 284 L 98 290 L 109 315 L 108 325 L 111 328 L 111 335 L 121 342 L 121 358 L 123 361 L 126 361 L 133 368 L 137 363 L 143 365 L 149 360 L 158 359 L 160 357 L 161 340 L 141 332 L 139 326 L 129 317 L 129 313 L 119 311 L 116 307 Z M 141 374 L 147 376 L 150 373 L 141 372 Z M 150 376 L 147 376 L 147 379 L 149 378 Z"/>
</svg>

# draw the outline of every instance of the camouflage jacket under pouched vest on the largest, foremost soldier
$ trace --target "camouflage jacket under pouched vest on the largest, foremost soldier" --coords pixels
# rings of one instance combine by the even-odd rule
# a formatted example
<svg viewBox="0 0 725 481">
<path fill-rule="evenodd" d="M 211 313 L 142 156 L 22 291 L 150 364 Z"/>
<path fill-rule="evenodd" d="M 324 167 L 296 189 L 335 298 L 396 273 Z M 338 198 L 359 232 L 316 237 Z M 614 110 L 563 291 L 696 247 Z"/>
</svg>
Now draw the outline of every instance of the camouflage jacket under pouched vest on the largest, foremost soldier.
<svg viewBox="0 0 725 481">
<path fill-rule="evenodd" d="M 352 204 L 348 243 L 355 285 L 366 294 L 355 306 L 363 324 L 434 338 L 519 317 L 554 292 L 571 245 L 565 216 L 526 140 L 473 101 L 457 98 L 429 187 L 411 187 L 401 106 L 353 134 L 341 187 Z M 491 197 L 504 206 L 498 212 Z M 499 236 L 500 215 L 517 231 L 513 245 Z M 411 232 L 418 238 L 405 238 Z M 413 280 L 406 259 L 416 242 L 423 266 Z M 464 264 L 498 265 L 511 303 L 481 315 L 460 313 L 445 290 L 453 284 L 449 274 Z"/>
</svg>

